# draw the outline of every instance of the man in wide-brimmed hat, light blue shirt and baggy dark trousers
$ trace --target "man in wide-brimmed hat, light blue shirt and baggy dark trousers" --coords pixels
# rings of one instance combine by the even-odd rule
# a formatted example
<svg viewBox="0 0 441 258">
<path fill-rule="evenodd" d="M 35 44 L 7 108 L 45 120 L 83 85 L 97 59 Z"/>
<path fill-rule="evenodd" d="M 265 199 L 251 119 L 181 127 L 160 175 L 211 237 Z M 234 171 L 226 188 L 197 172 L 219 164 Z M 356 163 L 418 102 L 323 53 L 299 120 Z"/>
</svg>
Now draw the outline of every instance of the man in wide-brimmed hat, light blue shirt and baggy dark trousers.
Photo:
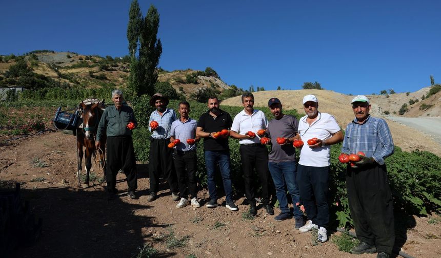
<svg viewBox="0 0 441 258">
<path fill-rule="evenodd" d="M 176 173 L 173 169 L 173 149 L 168 147 L 170 143 L 171 124 L 176 120 L 176 113 L 168 109 L 168 98 L 162 94 L 156 93 L 150 99 L 150 105 L 155 107 L 149 118 L 150 136 L 149 151 L 149 179 L 150 194 L 147 201 L 156 200 L 159 184 L 159 176 L 164 176 L 170 186 L 171 197 L 173 201 L 179 200 L 177 195 Z M 158 126 L 151 127 L 151 122 L 156 121 Z"/>
</svg>

